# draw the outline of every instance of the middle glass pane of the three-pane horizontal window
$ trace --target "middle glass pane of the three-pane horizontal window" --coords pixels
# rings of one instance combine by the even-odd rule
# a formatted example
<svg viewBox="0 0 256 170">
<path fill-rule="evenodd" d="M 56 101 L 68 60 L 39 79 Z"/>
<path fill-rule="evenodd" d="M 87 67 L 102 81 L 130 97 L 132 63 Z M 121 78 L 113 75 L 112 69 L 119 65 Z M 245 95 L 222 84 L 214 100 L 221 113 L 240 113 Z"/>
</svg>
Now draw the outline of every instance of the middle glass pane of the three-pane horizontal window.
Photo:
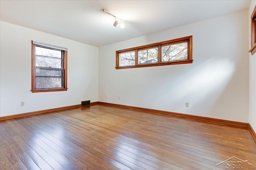
<svg viewBox="0 0 256 170">
<path fill-rule="evenodd" d="M 158 48 L 146 49 L 138 51 L 139 64 L 157 63 Z"/>
</svg>

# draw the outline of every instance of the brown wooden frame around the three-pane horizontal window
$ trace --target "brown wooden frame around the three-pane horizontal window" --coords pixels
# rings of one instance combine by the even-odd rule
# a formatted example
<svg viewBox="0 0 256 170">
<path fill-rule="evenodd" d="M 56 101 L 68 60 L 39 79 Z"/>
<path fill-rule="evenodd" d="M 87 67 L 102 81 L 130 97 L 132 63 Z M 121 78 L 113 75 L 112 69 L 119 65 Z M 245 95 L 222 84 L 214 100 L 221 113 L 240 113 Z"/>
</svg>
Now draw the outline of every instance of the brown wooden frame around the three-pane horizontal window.
<svg viewBox="0 0 256 170">
<path fill-rule="evenodd" d="M 162 46 L 184 43 L 184 42 L 188 42 L 188 59 L 162 62 L 162 56 L 161 56 L 162 55 L 161 54 Z M 154 47 L 158 47 L 158 63 L 138 64 L 138 51 L 144 50 L 144 49 L 150 49 L 150 48 L 154 48 Z M 119 54 L 129 52 L 129 51 L 135 51 L 135 65 L 119 66 Z M 178 39 L 172 39 L 172 40 L 168 40 L 168 41 L 162 41 L 159 43 L 153 43 L 153 44 L 149 44 L 149 45 L 143 45 L 143 46 L 139 46 L 139 47 L 133 47 L 133 48 L 129 48 L 129 49 L 123 49 L 123 50 L 116 51 L 116 67 L 115 68 L 116 69 L 124 69 L 124 68 L 165 66 L 165 65 L 188 64 L 188 63 L 193 63 L 193 60 L 192 60 L 192 35 L 187 36 L 187 37 L 178 38 Z"/>
</svg>

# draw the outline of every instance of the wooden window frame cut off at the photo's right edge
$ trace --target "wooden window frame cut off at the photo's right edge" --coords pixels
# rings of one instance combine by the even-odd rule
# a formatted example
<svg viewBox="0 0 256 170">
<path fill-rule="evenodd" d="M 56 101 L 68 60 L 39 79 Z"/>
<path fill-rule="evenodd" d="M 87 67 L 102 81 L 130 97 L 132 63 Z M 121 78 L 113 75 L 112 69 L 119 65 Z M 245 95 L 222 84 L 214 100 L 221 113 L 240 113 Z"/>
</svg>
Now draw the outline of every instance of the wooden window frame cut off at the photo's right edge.
<svg viewBox="0 0 256 170">
<path fill-rule="evenodd" d="M 256 6 L 251 15 L 251 49 L 249 52 L 252 55 L 256 53 Z"/>
</svg>

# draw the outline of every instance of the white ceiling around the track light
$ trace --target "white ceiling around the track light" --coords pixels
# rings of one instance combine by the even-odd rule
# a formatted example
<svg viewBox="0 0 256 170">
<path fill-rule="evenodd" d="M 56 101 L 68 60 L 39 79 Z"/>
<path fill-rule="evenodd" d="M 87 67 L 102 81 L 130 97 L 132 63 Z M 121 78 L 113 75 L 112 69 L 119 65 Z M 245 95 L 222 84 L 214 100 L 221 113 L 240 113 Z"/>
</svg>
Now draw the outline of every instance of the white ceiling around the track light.
<svg viewBox="0 0 256 170">
<path fill-rule="evenodd" d="M 250 0 L 0 0 L 0 20 L 96 47 L 245 10 Z M 114 27 L 114 17 L 125 28 Z"/>
</svg>

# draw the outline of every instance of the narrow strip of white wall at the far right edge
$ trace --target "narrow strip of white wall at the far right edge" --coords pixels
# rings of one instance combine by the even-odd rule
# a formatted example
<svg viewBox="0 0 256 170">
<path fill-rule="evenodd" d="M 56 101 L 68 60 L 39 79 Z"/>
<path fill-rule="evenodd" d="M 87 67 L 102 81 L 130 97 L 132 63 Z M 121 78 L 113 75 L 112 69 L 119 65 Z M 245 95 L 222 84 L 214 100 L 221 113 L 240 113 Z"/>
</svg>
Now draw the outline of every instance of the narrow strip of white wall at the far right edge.
<svg viewBox="0 0 256 170">
<path fill-rule="evenodd" d="M 248 9 L 249 37 L 251 37 L 251 15 L 256 5 L 252 0 Z M 251 39 L 249 38 L 249 48 L 251 48 Z M 249 123 L 256 132 L 256 54 L 249 53 Z"/>
</svg>

